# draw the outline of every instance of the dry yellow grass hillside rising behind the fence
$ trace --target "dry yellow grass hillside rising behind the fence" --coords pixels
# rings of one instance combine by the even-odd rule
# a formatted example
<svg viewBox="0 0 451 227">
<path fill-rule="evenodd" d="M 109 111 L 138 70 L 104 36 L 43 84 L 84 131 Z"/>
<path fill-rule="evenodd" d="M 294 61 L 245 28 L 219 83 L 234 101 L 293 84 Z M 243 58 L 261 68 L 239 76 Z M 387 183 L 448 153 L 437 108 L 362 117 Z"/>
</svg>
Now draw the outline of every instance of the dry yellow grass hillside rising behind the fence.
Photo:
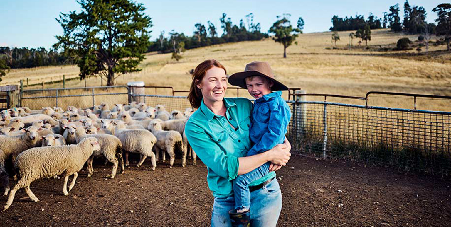
<svg viewBox="0 0 451 227">
<path fill-rule="evenodd" d="M 179 62 L 170 59 L 170 53 L 148 54 L 141 63 L 143 71 L 120 76 L 117 83 L 144 81 L 146 85 L 167 85 L 173 86 L 176 90 L 187 90 L 191 82 L 188 71 L 205 59 L 215 58 L 227 68 L 229 75 L 242 71 L 246 63 L 267 61 L 271 64 L 278 80 L 289 87 L 303 88 L 308 93 L 364 96 L 367 91 L 378 90 L 451 95 L 451 63 L 445 60 L 441 62 L 441 59 L 450 59 L 451 54 L 438 56 L 433 61 L 418 61 L 394 56 L 399 53 L 415 53 L 415 50 L 398 52 L 377 52 L 363 48 L 348 50 L 345 49 L 349 43 L 348 34 L 349 31 L 339 32 L 341 36 L 341 41 L 337 42 L 339 49 L 326 49 L 332 47 L 331 32 L 302 34 L 297 39 L 299 44 L 287 49 L 288 56 L 285 59 L 282 58 L 283 47 L 271 39 L 191 49 L 183 54 Z M 417 39 L 417 36 L 393 34 L 381 29 L 372 31 L 372 40 L 368 45 L 373 47 L 394 45 L 401 37 Z M 354 39 L 354 45 L 357 42 L 357 39 Z M 446 47 L 430 45 L 430 51 L 438 49 L 446 49 Z M 63 74 L 76 76 L 78 68 L 66 66 L 13 70 L 5 76 L 0 85 L 15 84 L 26 77 L 30 77 L 30 80 L 40 80 L 41 78 L 59 78 Z M 87 80 L 88 86 L 100 84 L 99 78 Z M 61 84 L 46 85 L 46 88 L 61 86 Z M 72 80 L 68 81 L 66 86 L 84 86 L 84 82 Z M 149 93 L 151 91 L 153 92 L 149 90 Z M 240 94 L 244 93 L 246 92 L 240 92 Z M 235 91 L 230 90 L 228 94 L 233 96 Z M 308 100 L 322 100 L 322 98 L 308 98 Z M 364 104 L 343 99 L 330 100 Z M 413 108 L 412 100 L 411 98 L 382 98 L 380 95 L 374 95 L 369 104 Z M 451 111 L 450 104 L 450 101 L 419 100 L 418 108 Z"/>
</svg>

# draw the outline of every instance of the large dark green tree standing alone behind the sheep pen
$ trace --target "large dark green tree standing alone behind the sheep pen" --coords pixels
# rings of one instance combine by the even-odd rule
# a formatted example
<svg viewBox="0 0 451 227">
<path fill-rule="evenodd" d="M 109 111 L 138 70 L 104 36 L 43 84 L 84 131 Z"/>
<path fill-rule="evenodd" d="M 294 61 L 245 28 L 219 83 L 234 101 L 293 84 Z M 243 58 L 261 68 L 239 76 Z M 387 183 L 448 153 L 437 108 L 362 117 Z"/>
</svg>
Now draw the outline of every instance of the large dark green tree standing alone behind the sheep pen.
<svg viewBox="0 0 451 227">
<path fill-rule="evenodd" d="M 115 74 L 140 71 L 149 43 L 151 18 L 143 4 L 130 0 L 79 0 L 82 11 L 61 13 L 56 19 L 63 28 L 55 36 L 55 49 L 74 56 L 80 79 L 105 76 L 114 85 Z"/>
</svg>

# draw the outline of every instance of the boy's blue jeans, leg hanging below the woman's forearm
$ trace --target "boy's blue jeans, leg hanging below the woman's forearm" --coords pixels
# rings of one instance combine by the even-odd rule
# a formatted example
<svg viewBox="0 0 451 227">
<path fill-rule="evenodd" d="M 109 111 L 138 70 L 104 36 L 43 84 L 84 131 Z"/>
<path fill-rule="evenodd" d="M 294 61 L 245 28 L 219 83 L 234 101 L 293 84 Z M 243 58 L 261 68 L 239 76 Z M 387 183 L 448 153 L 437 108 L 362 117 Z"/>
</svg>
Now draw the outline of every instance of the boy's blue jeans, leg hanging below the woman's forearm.
<svg viewBox="0 0 451 227">
<path fill-rule="evenodd" d="M 251 198 L 249 192 L 249 184 L 255 180 L 264 177 L 269 172 L 269 165 L 267 163 L 260 165 L 256 169 L 247 174 L 238 175 L 233 180 L 233 192 L 235 194 L 235 210 L 249 209 L 251 205 Z"/>
</svg>

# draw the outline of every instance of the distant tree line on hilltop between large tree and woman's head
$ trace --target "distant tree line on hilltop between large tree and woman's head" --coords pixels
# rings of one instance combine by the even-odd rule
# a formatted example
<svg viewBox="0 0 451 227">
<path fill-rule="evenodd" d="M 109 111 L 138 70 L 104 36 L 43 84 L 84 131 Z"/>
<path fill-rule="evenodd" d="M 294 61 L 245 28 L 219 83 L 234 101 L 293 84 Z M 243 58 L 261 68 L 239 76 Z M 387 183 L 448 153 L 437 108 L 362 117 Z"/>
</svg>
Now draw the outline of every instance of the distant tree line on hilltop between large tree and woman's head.
<svg viewBox="0 0 451 227">
<path fill-rule="evenodd" d="M 224 32 L 221 36 L 218 36 L 218 28 L 211 21 L 208 21 L 207 25 L 196 23 L 194 25 L 196 30 L 192 36 L 172 30 L 169 33 L 169 37 L 165 37 L 165 32 L 162 31 L 160 36 L 151 42 L 148 51 L 172 52 L 175 53 L 173 58 L 178 60 L 181 58 L 178 53 L 183 52 L 184 49 L 267 38 L 268 34 L 260 31 L 260 23 L 254 22 L 253 19 L 253 13 L 249 13 L 246 15 L 246 23 L 241 19 L 239 24 L 236 25 L 232 23 L 231 18 L 227 17 L 226 13 L 222 13 L 222 17 L 219 20 Z"/>
</svg>

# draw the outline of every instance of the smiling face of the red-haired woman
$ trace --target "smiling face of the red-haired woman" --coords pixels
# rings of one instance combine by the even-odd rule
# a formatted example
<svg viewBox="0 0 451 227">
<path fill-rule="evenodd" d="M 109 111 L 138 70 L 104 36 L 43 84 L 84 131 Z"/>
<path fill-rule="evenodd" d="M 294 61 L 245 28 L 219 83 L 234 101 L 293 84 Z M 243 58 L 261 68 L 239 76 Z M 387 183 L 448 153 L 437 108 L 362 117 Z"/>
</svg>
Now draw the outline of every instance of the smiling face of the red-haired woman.
<svg viewBox="0 0 451 227">
<path fill-rule="evenodd" d="M 206 104 L 222 102 L 227 89 L 226 71 L 218 67 L 210 68 L 197 87 L 202 90 L 202 98 Z"/>
</svg>

